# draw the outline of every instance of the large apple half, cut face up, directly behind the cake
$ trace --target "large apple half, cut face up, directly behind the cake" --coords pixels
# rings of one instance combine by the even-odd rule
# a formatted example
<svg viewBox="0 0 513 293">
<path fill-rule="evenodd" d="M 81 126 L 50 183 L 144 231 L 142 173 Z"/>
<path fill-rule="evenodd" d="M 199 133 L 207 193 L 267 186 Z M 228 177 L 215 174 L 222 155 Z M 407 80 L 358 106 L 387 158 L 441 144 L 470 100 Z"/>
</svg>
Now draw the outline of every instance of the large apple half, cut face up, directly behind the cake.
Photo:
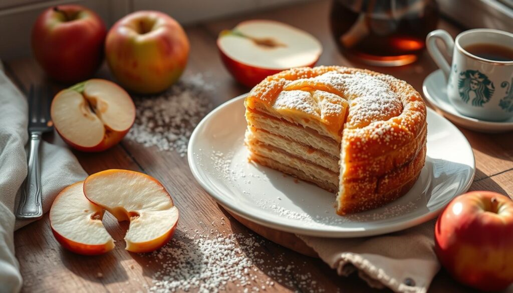
<svg viewBox="0 0 513 293">
<path fill-rule="evenodd" d="M 321 43 L 311 34 L 267 20 L 245 21 L 222 31 L 218 48 L 231 75 L 248 87 L 285 69 L 311 67 L 322 53 Z"/>
</svg>

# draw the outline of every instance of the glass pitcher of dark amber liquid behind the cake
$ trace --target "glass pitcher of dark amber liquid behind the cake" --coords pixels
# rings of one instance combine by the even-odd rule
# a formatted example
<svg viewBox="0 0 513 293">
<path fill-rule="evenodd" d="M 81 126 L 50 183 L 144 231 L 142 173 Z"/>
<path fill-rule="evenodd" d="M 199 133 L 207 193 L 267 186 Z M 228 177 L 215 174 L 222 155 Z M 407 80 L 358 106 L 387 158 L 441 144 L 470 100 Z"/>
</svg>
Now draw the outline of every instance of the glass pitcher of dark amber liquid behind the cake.
<svg viewBox="0 0 513 293">
<path fill-rule="evenodd" d="M 342 53 L 378 66 L 415 62 L 437 22 L 434 0 L 333 0 L 330 15 Z"/>
</svg>

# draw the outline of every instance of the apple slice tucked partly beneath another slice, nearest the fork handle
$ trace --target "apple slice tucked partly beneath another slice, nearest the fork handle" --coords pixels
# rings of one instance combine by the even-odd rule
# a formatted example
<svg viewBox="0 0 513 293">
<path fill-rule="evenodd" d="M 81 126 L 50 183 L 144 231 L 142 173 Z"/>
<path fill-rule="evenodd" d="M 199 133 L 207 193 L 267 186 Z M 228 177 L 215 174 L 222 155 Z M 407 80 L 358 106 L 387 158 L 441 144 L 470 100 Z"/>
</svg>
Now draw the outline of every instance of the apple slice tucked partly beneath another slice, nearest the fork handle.
<svg viewBox="0 0 513 293">
<path fill-rule="evenodd" d="M 84 182 L 66 187 L 50 209 L 50 226 L 63 247 L 81 255 L 100 255 L 114 248 L 102 224 L 104 209 L 84 196 Z"/>
</svg>

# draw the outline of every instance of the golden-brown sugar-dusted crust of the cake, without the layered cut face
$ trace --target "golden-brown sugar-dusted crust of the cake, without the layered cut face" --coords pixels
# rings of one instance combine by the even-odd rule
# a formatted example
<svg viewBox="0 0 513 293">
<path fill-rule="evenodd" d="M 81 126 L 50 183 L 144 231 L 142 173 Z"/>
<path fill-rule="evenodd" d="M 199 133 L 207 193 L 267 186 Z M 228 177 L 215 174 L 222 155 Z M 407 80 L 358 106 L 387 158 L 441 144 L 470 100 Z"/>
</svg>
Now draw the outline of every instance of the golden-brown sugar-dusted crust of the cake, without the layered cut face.
<svg viewBox="0 0 513 293">
<path fill-rule="evenodd" d="M 424 166 L 425 103 L 390 75 L 339 66 L 294 68 L 255 86 L 245 106 L 247 118 L 248 112 L 263 112 L 341 144 L 339 214 L 397 199 Z"/>
</svg>

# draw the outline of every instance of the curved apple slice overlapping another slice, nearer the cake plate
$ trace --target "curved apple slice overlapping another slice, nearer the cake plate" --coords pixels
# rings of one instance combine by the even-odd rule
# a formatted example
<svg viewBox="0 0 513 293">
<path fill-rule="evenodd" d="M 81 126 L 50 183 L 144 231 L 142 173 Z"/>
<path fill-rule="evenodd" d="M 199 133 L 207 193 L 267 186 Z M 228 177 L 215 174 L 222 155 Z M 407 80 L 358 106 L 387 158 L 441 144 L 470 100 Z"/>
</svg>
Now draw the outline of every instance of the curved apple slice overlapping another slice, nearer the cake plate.
<svg viewBox="0 0 513 293">
<path fill-rule="evenodd" d="M 118 221 L 130 221 L 126 249 L 149 252 L 164 246 L 173 236 L 178 209 L 156 179 L 129 170 L 105 170 L 90 175 L 84 194 Z"/>
</svg>

